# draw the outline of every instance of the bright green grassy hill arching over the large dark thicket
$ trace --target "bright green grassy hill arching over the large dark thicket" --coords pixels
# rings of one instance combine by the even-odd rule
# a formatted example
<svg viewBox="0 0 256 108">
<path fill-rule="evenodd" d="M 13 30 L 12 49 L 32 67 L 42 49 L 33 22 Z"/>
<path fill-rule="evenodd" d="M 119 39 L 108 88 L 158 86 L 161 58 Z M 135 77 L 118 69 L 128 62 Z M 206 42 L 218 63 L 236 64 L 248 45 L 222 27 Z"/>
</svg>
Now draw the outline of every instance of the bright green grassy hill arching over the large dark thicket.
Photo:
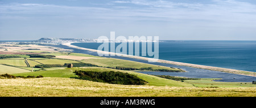
<svg viewBox="0 0 256 108">
<path fill-rule="evenodd" d="M 73 73 L 75 70 L 97 71 L 97 72 L 102 72 L 102 71 L 125 72 L 125 73 L 136 75 L 139 78 L 147 81 L 148 85 L 170 86 L 170 87 L 193 87 L 192 84 L 182 83 L 180 81 L 163 79 L 161 77 L 141 74 L 141 73 L 132 72 L 132 71 L 120 71 L 120 70 L 115 70 L 112 68 L 102 68 L 102 67 L 82 67 L 82 68 L 75 67 L 75 68 L 59 68 L 59 69 L 54 68 L 53 70 L 51 70 L 51 68 L 49 68 L 46 71 L 42 70 L 42 71 L 37 71 L 37 72 L 26 72 L 26 73 L 13 74 L 13 75 L 15 75 L 15 76 L 43 75 L 44 77 L 75 77 L 76 75 Z"/>
</svg>

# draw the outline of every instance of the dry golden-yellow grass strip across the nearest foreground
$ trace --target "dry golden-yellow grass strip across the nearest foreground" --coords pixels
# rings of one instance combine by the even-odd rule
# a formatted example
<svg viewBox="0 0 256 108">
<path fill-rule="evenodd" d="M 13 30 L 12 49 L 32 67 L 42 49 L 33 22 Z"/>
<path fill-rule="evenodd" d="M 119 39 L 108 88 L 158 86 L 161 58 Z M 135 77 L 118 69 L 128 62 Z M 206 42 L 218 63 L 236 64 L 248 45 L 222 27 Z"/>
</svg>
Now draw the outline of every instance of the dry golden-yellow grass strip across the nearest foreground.
<svg viewBox="0 0 256 108">
<path fill-rule="evenodd" d="M 69 78 L 0 79 L 0 96 L 55 97 L 255 97 L 256 88 L 155 87 L 148 85 L 117 85 Z"/>
</svg>

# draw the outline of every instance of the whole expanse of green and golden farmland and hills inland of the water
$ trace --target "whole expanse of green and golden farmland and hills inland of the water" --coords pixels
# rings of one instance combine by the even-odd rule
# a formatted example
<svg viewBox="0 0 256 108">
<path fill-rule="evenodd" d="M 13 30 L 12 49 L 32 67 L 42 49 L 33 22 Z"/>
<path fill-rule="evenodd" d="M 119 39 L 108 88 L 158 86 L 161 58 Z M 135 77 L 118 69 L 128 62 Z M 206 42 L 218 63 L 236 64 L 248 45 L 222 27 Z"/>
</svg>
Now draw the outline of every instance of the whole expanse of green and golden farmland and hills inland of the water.
<svg viewBox="0 0 256 108">
<path fill-rule="evenodd" d="M 0 96 L 4 97 L 254 97 L 256 91 L 254 82 L 142 74 L 137 71 L 185 71 L 49 45 L 1 47 Z"/>
</svg>

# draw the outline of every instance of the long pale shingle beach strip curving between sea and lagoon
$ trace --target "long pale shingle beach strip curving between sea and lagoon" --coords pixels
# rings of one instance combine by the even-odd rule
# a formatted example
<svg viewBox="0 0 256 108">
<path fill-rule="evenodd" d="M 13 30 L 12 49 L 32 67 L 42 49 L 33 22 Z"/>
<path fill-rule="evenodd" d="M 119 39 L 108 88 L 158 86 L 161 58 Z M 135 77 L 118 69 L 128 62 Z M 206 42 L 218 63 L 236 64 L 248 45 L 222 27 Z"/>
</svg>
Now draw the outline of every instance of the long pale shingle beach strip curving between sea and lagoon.
<svg viewBox="0 0 256 108">
<path fill-rule="evenodd" d="M 81 49 L 81 50 L 89 50 L 89 51 L 94 51 L 94 52 L 98 51 L 98 53 L 102 53 L 102 54 L 117 55 L 117 53 L 113 53 L 113 52 L 99 51 L 99 50 L 94 50 L 94 49 L 87 49 L 87 48 L 84 48 L 84 47 L 78 47 L 78 46 L 75 46 L 75 45 L 71 45 L 72 43 L 74 43 L 74 42 L 64 43 L 62 45 L 66 45 L 66 46 L 69 46 L 69 47 L 74 47 L 76 49 Z M 143 59 L 143 60 L 146 60 L 146 61 L 154 61 L 154 62 L 159 62 L 159 63 L 175 64 L 175 65 L 179 65 L 179 66 L 188 66 L 188 67 L 202 68 L 202 69 L 206 69 L 206 70 L 221 71 L 221 72 L 228 72 L 228 73 L 232 73 L 232 74 L 239 74 L 239 75 L 246 75 L 246 76 L 256 77 L 256 72 L 250 72 L 250 71 L 234 70 L 234 69 L 230 69 L 230 68 L 221 68 L 221 67 L 212 67 L 212 66 L 203 66 L 203 65 L 191 64 L 191 63 L 173 62 L 173 61 L 166 61 L 166 60 L 162 60 L 162 59 L 137 57 L 135 55 L 127 55 L 127 54 L 118 54 L 118 55 L 121 55 L 123 57 L 129 57 L 129 58 Z"/>
</svg>

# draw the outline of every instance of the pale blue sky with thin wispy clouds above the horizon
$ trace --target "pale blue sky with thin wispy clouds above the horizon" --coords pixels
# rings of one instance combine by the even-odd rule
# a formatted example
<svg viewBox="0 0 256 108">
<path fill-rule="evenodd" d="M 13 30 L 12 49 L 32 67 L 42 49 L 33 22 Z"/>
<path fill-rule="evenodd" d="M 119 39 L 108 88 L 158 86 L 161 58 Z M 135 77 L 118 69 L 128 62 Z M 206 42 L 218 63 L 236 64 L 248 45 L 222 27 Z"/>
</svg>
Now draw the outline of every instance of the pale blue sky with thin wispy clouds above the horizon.
<svg viewBox="0 0 256 108">
<path fill-rule="evenodd" d="M 0 0 L 0 40 L 256 40 L 255 0 Z"/>
</svg>

